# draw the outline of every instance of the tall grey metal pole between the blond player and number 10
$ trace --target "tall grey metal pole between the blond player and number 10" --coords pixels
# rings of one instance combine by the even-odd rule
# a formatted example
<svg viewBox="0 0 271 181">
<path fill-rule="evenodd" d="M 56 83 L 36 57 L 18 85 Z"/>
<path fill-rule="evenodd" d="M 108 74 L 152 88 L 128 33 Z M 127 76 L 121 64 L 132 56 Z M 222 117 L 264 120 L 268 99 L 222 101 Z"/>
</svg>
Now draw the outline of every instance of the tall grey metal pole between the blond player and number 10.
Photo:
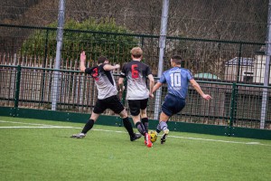
<svg viewBox="0 0 271 181">
<path fill-rule="evenodd" d="M 158 77 L 161 77 L 162 72 L 163 72 L 163 66 L 164 66 L 164 48 L 165 48 L 165 39 L 166 39 L 166 31 L 167 31 L 168 9 L 169 9 L 169 0 L 164 0 L 162 17 L 161 17 L 160 39 L 159 39 L 160 51 L 159 51 Z M 154 119 L 158 119 L 158 116 L 159 116 L 161 96 L 162 96 L 162 90 L 159 89 L 156 91 L 156 96 L 155 96 Z"/>
</svg>

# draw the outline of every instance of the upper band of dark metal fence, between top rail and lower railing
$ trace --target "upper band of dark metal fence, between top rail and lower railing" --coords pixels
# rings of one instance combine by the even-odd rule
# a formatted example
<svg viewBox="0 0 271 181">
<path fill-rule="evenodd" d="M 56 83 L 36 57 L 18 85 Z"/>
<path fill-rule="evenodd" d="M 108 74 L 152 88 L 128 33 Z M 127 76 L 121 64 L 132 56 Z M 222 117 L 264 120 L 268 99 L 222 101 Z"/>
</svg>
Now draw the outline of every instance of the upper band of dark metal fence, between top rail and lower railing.
<svg viewBox="0 0 271 181">
<path fill-rule="evenodd" d="M 0 24 L 0 64 L 53 68 L 55 37 L 55 28 Z M 106 55 L 112 63 L 122 65 L 130 61 L 129 51 L 134 46 L 143 48 L 143 61 L 157 75 L 159 36 L 67 29 L 63 34 L 61 69 L 78 71 L 82 50 L 87 52 L 89 64 Z M 167 37 L 164 70 L 170 67 L 173 54 L 181 54 L 182 67 L 190 69 L 197 80 L 263 84 L 265 49 L 265 43 Z"/>
</svg>

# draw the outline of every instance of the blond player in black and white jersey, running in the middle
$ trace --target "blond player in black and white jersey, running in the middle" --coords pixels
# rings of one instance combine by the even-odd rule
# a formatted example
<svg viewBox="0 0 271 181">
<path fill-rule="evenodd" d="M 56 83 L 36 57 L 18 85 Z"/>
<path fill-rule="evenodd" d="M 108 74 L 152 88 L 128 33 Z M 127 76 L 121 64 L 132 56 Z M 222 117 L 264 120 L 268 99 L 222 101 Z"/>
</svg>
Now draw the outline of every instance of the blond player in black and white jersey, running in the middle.
<svg viewBox="0 0 271 181">
<path fill-rule="evenodd" d="M 128 106 L 138 131 L 145 136 L 145 145 L 152 147 L 153 143 L 148 135 L 148 118 L 146 107 L 148 98 L 154 97 L 152 90 L 154 87 L 154 76 L 148 65 L 141 62 L 143 51 L 140 47 L 134 47 L 131 50 L 131 62 L 127 62 L 120 73 L 118 85 L 120 90 L 124 90 L 124 78 L 127 79 Z M 146 78 L 149 80 L 149 89 L 146 86 Z M 141 121 L 140 121 L 141 120 Z"/>
</svg>

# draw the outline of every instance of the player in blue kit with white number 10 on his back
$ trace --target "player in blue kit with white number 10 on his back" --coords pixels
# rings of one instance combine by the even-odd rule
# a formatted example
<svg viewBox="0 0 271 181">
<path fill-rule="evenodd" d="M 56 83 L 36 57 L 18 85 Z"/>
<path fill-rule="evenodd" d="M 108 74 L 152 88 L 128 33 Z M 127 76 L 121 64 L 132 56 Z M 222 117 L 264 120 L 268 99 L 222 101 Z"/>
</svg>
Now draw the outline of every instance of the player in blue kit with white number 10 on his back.
<svg viewBox="0 0 271 181">
<path fill-rule="evenodd" d="M 167 95 L 162 104 L 162 111 L 160 114 L 159 124 L 156 132 L 164 131 L 161 138 L 161 144 L 164 144 L 169 133 L 166 122 L 174 114 L 181 111 L 185 106 L 185 97 L 188 90 L 189 83 L 192 87 L 201 94 L 205 100 L 210 100 L 209 94 L 203 93 L 200 85 L 193 79 L 191 71 L 181 67 L 182 57 L 180 55 L 173 55 L 171 58 L 172 69 L 164 71 L 160 80 L 154 85 L 153 93 L 158 90 L 163 83 L 167 83 Z"/>
</svg>

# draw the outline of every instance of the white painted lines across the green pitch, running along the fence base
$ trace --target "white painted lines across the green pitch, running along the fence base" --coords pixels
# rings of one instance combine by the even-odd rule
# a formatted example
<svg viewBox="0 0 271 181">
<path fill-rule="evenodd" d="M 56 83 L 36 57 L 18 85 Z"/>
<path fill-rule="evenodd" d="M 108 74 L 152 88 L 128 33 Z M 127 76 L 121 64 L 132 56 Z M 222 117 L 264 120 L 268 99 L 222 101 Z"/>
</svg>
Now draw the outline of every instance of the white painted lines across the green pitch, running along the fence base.
<svg viewBox="0 0 271 181">
<path fill-rule="evenodd" d="M 5 121 L 0 120 L 3 123 L 14 123 L 14 124 L 26 124 L 26 125 L 33 125 L 33 126 L 40 126 L 40 127 L 0 127 L 0 129 L 82 129 L 79 127 L 61 127 L 55 125 L 46 125 L 46 124 L 37 124 L 37 123 L 25 123 L 25 122 L 14 122 L 14 121 Z M 115 130 L 107 130 L 107 129 L 92 129 L 96 131 L 104 131 L 104 132 L 115 132 L 115 133 L 126 133 L 126 131 L 115 131 Z M 160 135 L 158 135 L 160 136 Z M 192 140 L 202 140 L 202 141 L 213 141 L 213 142 L 222 142 L 222 143 L 234 143 L 234 144 L 244 144 L 244 145 L 261 145 L 261 146 L 268 146 L 268 144 L 262 144 L 260 142 L 241 142 L 241 141 L 227 141 L 227 140 L 220 140 L 220 139 L 210 139 L 210 138 L 191 138 L 191 137 L 179 137 L 179 136 L 168 136 L 169 138 L 185 138 L 185 139 L 192 139 Z"/>
</svg>

